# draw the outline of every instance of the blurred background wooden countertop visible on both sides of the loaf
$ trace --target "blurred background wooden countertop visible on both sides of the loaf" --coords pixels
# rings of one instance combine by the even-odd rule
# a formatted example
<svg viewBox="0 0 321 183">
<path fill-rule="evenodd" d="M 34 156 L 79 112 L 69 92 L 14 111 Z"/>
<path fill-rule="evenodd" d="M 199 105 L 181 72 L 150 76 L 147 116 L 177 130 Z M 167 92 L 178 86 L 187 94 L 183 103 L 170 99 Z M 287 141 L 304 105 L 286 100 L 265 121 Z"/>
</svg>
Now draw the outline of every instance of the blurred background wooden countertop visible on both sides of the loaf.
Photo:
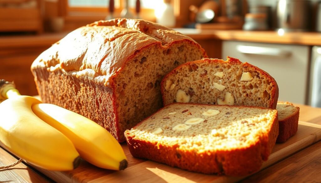
<svg viewBox="0 0 321 183">
<path fill-rule="evenodd" d="M 197 40 L 236 40 L 248 42 L 276 43 L 321 46 L 321 33 L 318 32 L 286 32 L 283 36 L 275 31 L 244 30 L 198 30 L 176 29 Z M 0 36 L 0 48 L 50 46 L 68 32 L 45 33 L 41 35 Z"/>
</svg>

